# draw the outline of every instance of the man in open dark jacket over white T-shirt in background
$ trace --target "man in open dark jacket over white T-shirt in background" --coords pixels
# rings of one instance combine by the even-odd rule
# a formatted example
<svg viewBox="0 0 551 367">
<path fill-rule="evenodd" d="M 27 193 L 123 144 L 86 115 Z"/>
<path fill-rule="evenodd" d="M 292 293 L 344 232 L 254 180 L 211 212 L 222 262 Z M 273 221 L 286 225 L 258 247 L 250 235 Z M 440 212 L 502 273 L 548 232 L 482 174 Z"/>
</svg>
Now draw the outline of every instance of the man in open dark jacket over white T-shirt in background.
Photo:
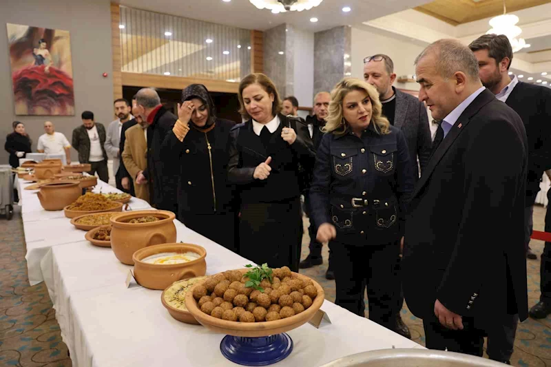
<svg viewBox="0 0 551 367">
<path fill-rule="evenodd" d="M 94 114 L 90 111 L 82 113 L 83 125 L 73 130 L 72 143 L 74 149 L 79 152 L 79 162 L 90 163 L 92 170 L 88 174 L 96 172 L 100 180 L 109 182 L 107 171 L 107 153 L 105 144 L 105 127 L 94 121 Z"/>
</svg>

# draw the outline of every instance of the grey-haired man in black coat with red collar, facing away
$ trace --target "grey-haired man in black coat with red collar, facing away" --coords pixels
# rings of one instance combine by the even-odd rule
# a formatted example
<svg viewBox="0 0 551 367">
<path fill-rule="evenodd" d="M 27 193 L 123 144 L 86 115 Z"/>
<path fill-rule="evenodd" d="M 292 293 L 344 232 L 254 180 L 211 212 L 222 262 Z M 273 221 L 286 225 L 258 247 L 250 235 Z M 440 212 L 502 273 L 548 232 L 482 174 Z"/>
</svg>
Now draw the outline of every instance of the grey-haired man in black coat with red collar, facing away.
<svg viewBox="0 0 551 367">
<path fill-rule="evenodd" d="M 142 88 L 136 93 L 136 112 L 149 123 L 147 169 L 138 174 L 136 182 L 149 182 L 149 200 L 153 207 L 178 213 L 178 174 L 169 169 L 169 165 L 165 167 L 160 158 L 160 147 L 178 118 L 160 104 L 159 95 L 151 88 Z"/>
</svg>

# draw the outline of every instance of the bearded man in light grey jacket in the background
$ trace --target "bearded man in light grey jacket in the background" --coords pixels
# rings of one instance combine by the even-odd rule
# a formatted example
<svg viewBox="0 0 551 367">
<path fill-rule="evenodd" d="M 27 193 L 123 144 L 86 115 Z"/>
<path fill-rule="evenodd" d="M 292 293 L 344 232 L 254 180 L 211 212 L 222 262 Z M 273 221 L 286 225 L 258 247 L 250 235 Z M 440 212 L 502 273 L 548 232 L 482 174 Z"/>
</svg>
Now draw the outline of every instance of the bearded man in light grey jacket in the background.
<svg viewBox="0 0 551 367">
<path fill-rule="evenodd" d="M 105 138 L 105 145 L 103 145 L 103 147 L 107 152 L 107 156 L 113 159 L 113 173 L 115 175 L 116 188 L 127 192 L 123 188 L 123 184 L 121 182 L 122 176 L 118 172 L 122 153 L 120 147 L 121 131 L 123 129 L 123 123 L 131 120 L 134 116 L 130 114 L 132 107 L 130 107 L 130 103 L 125 100 L 125 98 L 118 98 L 114 102 L 114 107 L 115 115 L 118 118 L 110 123 L 109 127 L 107 127 L 107 137 Z"/>
</svg>

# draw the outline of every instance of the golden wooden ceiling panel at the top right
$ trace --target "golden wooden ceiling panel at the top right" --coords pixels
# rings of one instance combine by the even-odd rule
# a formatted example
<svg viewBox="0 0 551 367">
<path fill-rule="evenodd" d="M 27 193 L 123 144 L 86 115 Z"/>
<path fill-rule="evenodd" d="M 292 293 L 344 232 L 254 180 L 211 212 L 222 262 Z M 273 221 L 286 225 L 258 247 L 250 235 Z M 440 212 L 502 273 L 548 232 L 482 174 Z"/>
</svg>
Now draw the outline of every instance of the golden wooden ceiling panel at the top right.
<svg viewBox="0 0 551 367">
<path fill-rule="evenodd" d="M 507 0 L 507 12 L 532 8 L 550 0 Z M 419 12 L 458 25 L 503 14 L 503 0 L 436 0 L 414 8 Z"/>
</svg>

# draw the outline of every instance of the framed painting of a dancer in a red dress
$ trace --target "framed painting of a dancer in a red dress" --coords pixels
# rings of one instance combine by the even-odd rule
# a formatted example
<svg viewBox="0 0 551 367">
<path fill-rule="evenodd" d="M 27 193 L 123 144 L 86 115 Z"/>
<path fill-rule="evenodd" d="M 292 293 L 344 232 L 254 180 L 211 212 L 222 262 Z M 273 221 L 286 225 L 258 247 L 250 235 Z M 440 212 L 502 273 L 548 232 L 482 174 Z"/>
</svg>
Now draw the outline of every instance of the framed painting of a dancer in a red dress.
<svg viewBox="0 0 551 367">
<path fill-rule="evenodd" d="M 74 116 L 69 32 L 10 23 L 7 28 L 15 114 Z"/>
</svg>

